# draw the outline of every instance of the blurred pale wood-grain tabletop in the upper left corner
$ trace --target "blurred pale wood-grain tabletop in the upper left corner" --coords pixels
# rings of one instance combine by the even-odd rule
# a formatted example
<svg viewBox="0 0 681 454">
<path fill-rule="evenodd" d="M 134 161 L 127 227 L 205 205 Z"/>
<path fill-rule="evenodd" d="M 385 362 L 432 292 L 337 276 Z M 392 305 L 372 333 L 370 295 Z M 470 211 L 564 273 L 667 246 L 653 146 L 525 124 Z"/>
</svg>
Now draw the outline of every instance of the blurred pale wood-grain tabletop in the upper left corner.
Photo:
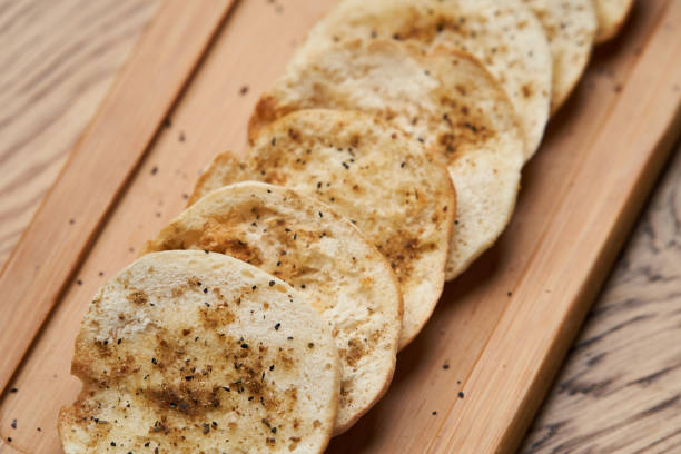
<svg viewBox="0 0 681 454">
<path fill-rule="evenodd" d="M 0 0 L 0 267 L 158 4 Z"/>
</svg>

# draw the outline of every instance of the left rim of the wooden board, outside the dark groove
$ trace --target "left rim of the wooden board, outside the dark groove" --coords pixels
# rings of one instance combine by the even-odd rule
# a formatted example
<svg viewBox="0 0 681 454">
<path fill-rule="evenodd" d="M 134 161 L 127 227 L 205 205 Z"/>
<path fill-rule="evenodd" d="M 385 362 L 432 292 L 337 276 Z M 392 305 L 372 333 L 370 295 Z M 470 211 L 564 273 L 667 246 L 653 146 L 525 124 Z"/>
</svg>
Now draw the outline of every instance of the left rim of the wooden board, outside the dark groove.
<svg viewBox="0 0 681 454">
<path fill-rule="evenodd" d="M 0 393 L 235 2 L 166 0 L 73 147 L 0 274 Z"/>
</svg>

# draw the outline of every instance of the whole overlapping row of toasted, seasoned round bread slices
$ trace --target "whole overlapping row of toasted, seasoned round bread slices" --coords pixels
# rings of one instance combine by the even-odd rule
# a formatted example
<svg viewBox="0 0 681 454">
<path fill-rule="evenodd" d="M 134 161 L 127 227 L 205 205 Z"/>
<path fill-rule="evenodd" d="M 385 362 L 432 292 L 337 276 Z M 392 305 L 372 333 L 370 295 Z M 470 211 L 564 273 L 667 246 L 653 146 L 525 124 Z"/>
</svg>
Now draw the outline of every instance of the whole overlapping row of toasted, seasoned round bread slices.
<svg viewBox="0 0 681 454">
<path fill-rule="evenodd" d="M 632 0 L 342 0 L 188 208 L 92 299 L 66 453 L 319 454 L 386 392 L 444 282 Z"/>
</svg>

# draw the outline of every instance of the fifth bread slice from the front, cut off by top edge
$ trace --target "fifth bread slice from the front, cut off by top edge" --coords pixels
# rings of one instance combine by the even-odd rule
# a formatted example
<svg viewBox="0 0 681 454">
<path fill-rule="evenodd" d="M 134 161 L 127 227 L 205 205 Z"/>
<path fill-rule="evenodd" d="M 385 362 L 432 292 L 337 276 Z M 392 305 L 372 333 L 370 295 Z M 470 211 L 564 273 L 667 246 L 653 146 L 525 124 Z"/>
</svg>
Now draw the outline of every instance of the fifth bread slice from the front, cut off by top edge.
<svg viewBox="0 0 681 454">
<path fill-rule="evenodd" d="M 472 53 L 515 108 L 525 158 L 539 148 L 549 120 L 553 60 L 543 27 L 522 0 L 345 0 L 317 23 L 298 53 L 357 39 Z"/>
</svg>

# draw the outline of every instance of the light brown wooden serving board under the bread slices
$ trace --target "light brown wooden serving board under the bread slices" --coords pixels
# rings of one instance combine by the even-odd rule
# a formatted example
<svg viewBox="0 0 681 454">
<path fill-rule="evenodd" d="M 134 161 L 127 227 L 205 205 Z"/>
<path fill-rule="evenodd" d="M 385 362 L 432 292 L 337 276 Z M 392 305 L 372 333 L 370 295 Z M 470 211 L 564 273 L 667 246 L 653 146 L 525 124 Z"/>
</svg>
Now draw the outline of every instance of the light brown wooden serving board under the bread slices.
<svg viewBox="0 0 681 454">
<path fill-rule="evenodd" d="M 61 452 L 90 296 L 181 211 L 216 154 L 244 150 L 258 93 L 334 3 L 165 1 L 0 275 L 0 453 Z M 679 23 L 681 1 L 640 1 L 595 51 L 506 233 L 445 287 L 387 395 L 328 452 L 517 446 L 680 132 Z"/>
</svg>

